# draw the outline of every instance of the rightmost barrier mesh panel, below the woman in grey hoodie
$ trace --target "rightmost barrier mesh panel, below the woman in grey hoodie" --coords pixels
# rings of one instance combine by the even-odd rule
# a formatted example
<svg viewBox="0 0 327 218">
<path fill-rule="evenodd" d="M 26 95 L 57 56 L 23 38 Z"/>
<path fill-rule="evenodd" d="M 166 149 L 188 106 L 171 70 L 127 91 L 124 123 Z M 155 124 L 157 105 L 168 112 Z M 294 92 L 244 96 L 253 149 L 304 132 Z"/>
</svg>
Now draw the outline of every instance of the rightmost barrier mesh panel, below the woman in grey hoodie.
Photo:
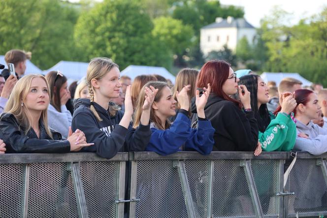
<svg viewBox="0 0 327 218">
<path fill-rule="evenodd" d="M 289 213 L 327 211 L 327 186 L 316 159 L 297 159 L 288 179 Z"/>
</svg>

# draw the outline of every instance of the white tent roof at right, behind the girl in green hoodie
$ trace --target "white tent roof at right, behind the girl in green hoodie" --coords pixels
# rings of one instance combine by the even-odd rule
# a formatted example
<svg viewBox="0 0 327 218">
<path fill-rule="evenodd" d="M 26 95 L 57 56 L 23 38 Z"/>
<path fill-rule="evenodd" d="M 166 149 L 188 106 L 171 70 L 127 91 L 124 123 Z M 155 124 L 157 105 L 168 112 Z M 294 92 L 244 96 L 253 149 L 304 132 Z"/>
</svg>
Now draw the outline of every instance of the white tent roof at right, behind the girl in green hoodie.
<svg viewBox="0 0 327 218">
<path fill-rule="evenodd" d="M 268 73 L 268 72 L 264 72 L 260 76 L 264 82 L 275 81 L 277 86 L 279 85 L 280 81 L 286 77 L 291 77 L 291 78 L 300 80 L 303 85 L 311 85 L 311 83 L 312 83 L 309 80 L 307 80 L 306 78 L 302 77 L 298 73 Z"/>
</svg>

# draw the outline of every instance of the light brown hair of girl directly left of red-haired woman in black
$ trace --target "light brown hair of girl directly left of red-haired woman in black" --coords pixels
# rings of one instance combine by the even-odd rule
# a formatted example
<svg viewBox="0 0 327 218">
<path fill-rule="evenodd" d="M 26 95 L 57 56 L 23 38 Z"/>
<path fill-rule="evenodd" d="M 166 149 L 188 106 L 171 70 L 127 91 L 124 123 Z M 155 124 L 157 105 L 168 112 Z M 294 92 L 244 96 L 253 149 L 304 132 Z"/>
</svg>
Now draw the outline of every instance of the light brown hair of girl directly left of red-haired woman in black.
<svg viewBox="0 0 327 218">
<path fill-rule="evenodd" d="M 172 97 L 177 101 L 177 91 L 181 91 L 184 86 L 191 85 L 191 89 L 188 91 L 189 101 L 191 102 L 191 99 L 194 97 L 194 93 L 196 91 L 196 77 L 197 77 L 198 71 L 195 69 L 185 68 L 178 72 L 175 79 L 175 86 L 173 90 Z M 177 102 L 176 108 L 180 109 L 180 105 Z M 191 108 L 189 109 L 189 114 L 191 115 Z"/>
</svg>

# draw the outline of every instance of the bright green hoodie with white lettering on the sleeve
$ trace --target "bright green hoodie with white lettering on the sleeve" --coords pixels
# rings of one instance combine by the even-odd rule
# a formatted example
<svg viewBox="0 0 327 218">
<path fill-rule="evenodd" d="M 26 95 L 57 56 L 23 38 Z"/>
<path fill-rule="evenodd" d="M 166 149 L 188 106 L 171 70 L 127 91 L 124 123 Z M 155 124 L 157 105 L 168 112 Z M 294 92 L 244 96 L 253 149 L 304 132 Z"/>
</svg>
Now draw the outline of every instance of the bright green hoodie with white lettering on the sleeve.
<svg viewBox="0 0 327 218">
<path fill-rule="evenodd" d="M 270 123 L 262 133 L 259 131 L 259 142 L 263 151 L 290 151 L 296 139 L 296 125 L 290 115 L 270 113 Z"/>
</svg>

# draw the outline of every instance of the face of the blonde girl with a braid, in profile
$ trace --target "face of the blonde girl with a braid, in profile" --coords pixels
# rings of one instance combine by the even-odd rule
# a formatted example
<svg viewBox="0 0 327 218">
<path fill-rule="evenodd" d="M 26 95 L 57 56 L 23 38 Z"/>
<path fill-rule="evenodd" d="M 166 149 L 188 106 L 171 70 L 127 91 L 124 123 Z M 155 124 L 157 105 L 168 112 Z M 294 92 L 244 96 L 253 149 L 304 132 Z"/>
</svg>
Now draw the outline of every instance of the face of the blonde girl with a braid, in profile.
<svg viewBox="0 0 327 218">
<path fill-rule="evenodd" d="M 98 84 L 95 87 L 98 94 L 108 99 L 118 98 L 119 90 L 122 87 L 119 82 L 120 72 L 117 67 L 113 67 L 101 79 L 98 79 Z"/>
</svg>

